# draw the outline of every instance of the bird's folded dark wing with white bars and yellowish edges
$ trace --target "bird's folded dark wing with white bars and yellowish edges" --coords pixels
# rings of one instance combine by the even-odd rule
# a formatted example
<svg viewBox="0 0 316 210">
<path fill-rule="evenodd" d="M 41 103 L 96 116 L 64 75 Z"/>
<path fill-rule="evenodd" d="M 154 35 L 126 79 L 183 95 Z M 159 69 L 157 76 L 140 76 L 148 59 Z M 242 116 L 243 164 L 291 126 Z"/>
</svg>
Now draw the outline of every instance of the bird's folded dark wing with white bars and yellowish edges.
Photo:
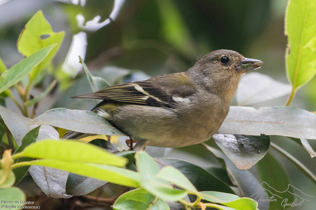
<svg viewBox="0 0 316 210">
<path fill-rule="evenodd" d="M 72 98 L 102 99 L 138 105 L 170 107 L 178 102 L 190 100 L 195 93 L 194 84 L 184 73 L 167 74 L 144 81 L 114 85 L 93 94 Z"/>
</svg>

